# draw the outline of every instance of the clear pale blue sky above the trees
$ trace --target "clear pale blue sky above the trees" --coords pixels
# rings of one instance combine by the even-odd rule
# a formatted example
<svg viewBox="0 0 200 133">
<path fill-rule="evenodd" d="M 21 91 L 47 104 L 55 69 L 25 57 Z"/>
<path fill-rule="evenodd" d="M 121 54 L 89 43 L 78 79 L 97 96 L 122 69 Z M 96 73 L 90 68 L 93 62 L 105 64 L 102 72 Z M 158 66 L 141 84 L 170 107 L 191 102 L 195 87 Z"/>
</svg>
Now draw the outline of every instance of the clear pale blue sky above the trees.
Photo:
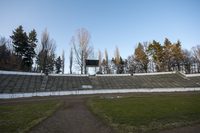
<svg viewBox="0 0 200 133">
<path fill-rule="evenodd" d="M 183 49 L 200 45 L 200 0 L 0 0 L 0 36 L 9 38 L 19 25 L 35 29 L 40 43 L 47 29 L 55 40 L 56 55 L 65 51 L 69 72 L 71 37 L 79 28 L 91 34 L 95 56 L 116 46 L 122 58 L 139 42 L 180 40 Z"/>
</svg>

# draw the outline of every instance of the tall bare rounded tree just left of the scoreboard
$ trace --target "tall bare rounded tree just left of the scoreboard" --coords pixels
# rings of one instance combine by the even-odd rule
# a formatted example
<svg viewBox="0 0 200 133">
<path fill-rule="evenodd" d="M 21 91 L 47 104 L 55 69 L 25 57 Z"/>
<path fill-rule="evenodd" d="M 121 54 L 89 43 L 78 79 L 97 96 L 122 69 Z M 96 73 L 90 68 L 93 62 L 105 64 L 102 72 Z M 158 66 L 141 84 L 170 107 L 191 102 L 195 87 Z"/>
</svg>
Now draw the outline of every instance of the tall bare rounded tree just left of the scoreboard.
<svg viewBox="0 0 200 133">
<path fill-rule="evenodd" d="M 75 63 L 78 66 L 81 74 L 86 72 L 85 60 L 92 55 L 93 48 L 89 45 L 90 33 L 81 28 L 77 31 L 77 34 L 72 37 L 72 44 L 75 54 Z"/>
</svg>

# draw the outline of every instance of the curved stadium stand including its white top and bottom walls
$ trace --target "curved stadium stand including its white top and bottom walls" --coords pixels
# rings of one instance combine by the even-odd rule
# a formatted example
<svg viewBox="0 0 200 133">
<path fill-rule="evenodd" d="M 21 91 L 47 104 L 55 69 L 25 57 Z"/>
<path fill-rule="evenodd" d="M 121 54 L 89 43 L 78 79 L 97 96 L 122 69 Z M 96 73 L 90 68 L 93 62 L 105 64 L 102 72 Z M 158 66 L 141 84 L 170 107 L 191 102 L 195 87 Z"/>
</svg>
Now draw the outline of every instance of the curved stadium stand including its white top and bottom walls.
<svg viewBox="0 0 200 133">
<path fill-rule="evenodd" d="M 199 91 L 200 75 L 178 72 L 70 75 L 0 72 L 0 98 L 128 92 Z"/>
</svg>

